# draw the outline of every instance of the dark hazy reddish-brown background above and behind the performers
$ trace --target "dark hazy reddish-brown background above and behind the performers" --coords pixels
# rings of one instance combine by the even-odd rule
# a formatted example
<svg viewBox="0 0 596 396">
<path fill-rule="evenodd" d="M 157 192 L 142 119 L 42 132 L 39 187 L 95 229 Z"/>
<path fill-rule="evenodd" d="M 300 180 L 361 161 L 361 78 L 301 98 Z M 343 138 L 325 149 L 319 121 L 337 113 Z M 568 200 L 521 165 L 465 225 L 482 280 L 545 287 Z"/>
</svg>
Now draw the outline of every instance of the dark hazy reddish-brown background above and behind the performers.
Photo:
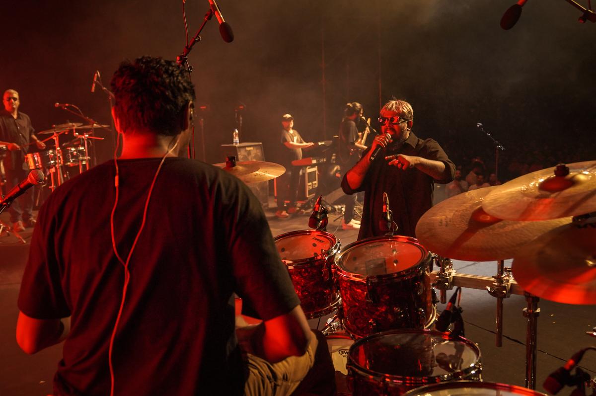
<svg viewBox="0 0 596 396">
<path fill-rule="evenodd" d="M 189 56 L 204 116 L 206 157 L 196 128 L 196 157 L 223 162 L 234 109 L 246 106 L 241 141 L 262 141 L 280 161 L 280 116 L 291 113 L 307 141 L 337 133 L 344 105 L 359 101 L 377 116 L 392 96 L 414 107 L 414 131 L 438 140 L 458 165 L 493 163 L 486 131 L 513 157 L 552 162 L 593 159 L 596 26 L 563 0 L 529 1 L 505 31 L 513 1 L 230 1 L 219 5 L 235 39 L 222 41 L 213 18 Z M 189 0 L 193 36 L 209 3 Z M 20 92 L 21 110 L 38 131 L 76 116 L 73 103 L 110 122 L 107 96 L 90 92 L 95 70 L 109 85 L 124 58 L 175 59 L 185 45 L 182 2 L 2 0 L 0 89 Z M 324 59 L 324 61 L 323 61 Z M 98 145 L 98 161 L 113 135 Z M 46 135 L 47 136 L 47 135 Z M 70 140 L 70 139 L 66 139 Z M 489 165 L 491 166 L 491 165 Z"/>
</svg>

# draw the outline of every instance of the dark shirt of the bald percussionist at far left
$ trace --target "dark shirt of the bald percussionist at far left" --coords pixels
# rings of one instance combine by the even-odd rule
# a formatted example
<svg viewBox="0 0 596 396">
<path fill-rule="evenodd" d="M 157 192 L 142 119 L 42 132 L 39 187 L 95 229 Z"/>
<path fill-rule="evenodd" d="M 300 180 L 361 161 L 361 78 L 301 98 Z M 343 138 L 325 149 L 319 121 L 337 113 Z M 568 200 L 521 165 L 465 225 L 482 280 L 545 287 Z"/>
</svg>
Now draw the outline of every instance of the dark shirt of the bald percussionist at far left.
<svg viewBox="0 0 596 396">
<path fill-rule="evenodd" d="M 0 141 L 16 143 L 21 146 L 21 150 L 8 151 L 4 159 L 6 169 L 29 169 L 24 163 L 24 155 L 28 151 L 28 147 L 25 145 L 29 144 L 31 135 L 34 133 L 35 129 L 31 125 L 31 119 L 25 113 L 17 112 L 15 119 L 6 110 L 0 110 Z"/>
</svg>

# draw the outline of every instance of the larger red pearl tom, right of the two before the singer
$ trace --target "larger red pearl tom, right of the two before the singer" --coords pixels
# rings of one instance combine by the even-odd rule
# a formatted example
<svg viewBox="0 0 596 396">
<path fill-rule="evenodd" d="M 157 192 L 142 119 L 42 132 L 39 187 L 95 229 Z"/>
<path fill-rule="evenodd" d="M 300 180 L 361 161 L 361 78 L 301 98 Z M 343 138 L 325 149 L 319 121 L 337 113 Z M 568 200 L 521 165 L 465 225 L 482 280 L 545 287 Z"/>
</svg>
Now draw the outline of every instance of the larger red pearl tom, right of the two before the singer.
<svg viewBox="0 0 596 396">
<path fill-rule="evenodd" d="M 423 329 L 436 317 L 432 256 L 417 239 L 374 237 L 350 243 L 336 256 L 343 328 L 356 337 L 392 329 Z"/>
</svg>

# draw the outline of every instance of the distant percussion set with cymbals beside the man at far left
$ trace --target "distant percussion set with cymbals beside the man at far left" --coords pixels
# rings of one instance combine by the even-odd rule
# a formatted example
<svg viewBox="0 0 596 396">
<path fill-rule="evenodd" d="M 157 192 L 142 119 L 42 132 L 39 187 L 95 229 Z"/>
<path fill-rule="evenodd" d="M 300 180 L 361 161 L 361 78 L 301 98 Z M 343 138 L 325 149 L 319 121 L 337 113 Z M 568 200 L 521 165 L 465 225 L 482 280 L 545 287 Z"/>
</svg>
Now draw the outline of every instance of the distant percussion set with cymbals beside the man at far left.
<svg viewBox="0 0 596 396">
<path fill-rule="evenodd" d="M 89 156 L 88 140 L 103 140 L 101 137 L 92 136 L 95 128 L 107 128 L 108 125 L 83 125 L 80 122 L 69 122 L 52 126 L 51 129 L 37 132 L 38 135 L 51 135 L 42 140 L 54 140 L 54 149 L 29 153 L 25 155 L 25 162 L 29 169 L 46 169 L 49 172 L 51 185 L 50 190 L 54 191 L 58 185 L 69 178 L 69 173 L 64 172 L 63 167 L 79 168 L 79 173 L 89 170 L 91 157 Z M 60 146 L 60 135 L 73 131 L 73 140 Z"/>
</svg>

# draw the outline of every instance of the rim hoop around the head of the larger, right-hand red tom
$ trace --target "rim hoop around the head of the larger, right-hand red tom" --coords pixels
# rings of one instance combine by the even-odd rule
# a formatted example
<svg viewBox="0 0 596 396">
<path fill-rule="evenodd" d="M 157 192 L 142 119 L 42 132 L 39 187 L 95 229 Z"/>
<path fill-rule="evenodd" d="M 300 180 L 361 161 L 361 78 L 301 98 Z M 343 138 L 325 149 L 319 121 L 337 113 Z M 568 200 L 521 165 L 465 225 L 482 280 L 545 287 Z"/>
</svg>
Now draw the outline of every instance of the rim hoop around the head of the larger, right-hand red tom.
<svg viewBox="0 0 596 396">
<path fill-rule="evenodd" d="M 365 245 L 365 244 L 374 243 L 374 242 L 382 242 L 382 241 L 387 241 L 387 240 L 398 240 L 399 242 L 411 242 L 412 245 L 418 246 L 418 248 L 420 248 L 423 258 L 420 260 L 420 262 L 418 262 L 418 264 L 412 265 L 412 267 L 406 268 L 405 270 L 398 271 L 395 273 L 390 273 L 390 274 L 381 274 L 381 275 L 373 275 L 373 276 L 353 273 L 351 271 L 348 271 L 346 268 L 343 268 L 340 265 L 342 256 L 344 253 L 347 252 L 347 250 L 352 249 L 355 246 Z M 351 280 L 367 281 L 367 279 L 368 279 L 369 281 L 374 281 L 377 279 L 378 280 L 387 280 L 387 279 L 393 279 L 393 278 L 399 278 L 401 280 L 405 280 L 405 279 L 411 278 L 411 277 L 417 275 L 418 273 L 420 273 L 421 270 L 423 269 L 423 267 L 430 263 L 431 259 L 432 259 L 432 254 L 429 252 L 429 250 L 427 248 L 425 248 L 420 243 L 420 241 L 418 241 L 414 237 L 408 237 L 408 236 L 403 236 L 403 235 L 394 235 L 394 236 L 390 236 L 390 237 L 386 237 L 386 236 L 372 237 L 372 238 L 358 240 L 356 242 L 350 243 L 349 245 L 346 245 L 342 249 L 342 251 L 337 253 L 337 255 L 335 256 L 333 269 L 334 269 L 334 271 L 336 271 L 337 275 L 339 275 L 343 278 L 346 278 L 346 279 L 351 279 Z M 429 267 L 429 271 L 430 271 L 430 267 Z"/>
</svg>

